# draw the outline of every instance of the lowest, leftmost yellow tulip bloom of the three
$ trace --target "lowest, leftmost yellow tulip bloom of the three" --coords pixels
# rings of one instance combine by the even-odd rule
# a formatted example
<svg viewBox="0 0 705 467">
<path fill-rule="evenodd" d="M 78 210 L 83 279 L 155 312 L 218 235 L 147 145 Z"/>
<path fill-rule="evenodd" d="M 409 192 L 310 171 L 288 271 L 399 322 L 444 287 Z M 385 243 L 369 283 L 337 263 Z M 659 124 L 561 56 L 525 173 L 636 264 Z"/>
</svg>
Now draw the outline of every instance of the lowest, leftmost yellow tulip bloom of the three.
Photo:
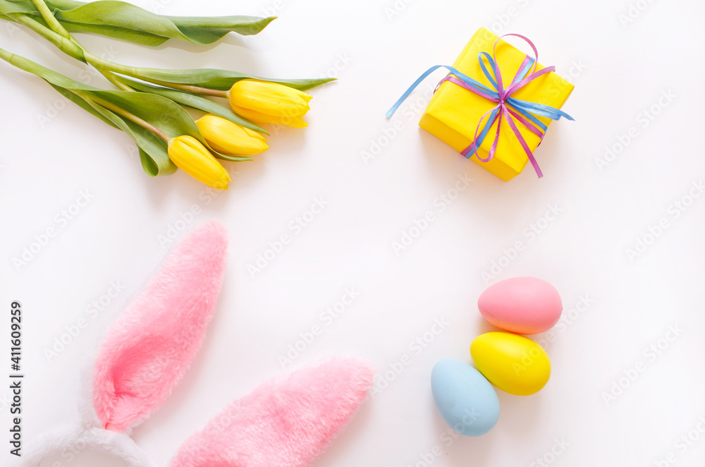
<svg viewBox="0 0 705 467">
<path fill-rule="evenodd" d="M 227 190 L 230 174 L 199 140 L 189 135 L 168 141 L 171 162 L 193 178 L 218 190 Z"/>
</svg>

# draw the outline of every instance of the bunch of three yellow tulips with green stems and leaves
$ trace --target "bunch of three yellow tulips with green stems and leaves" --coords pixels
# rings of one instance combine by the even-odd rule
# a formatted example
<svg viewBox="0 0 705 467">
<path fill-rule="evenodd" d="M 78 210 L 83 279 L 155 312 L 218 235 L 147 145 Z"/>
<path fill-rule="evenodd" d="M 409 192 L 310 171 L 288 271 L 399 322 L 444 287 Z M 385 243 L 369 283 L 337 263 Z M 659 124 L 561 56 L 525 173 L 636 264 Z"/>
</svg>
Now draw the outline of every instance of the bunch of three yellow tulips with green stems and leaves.
<svg viewBox="0 0 705 467">
<path fill-rule="evenodd" d="M 265 151 L 261 123 L 302 128 L 311 96 L 305 90 L 330 79 L 271 80 L 215 68 L 137 68 L 90 53 L 71 32 L 154 47 L 167 40 L 210 44 L 228 32 L 252 35 L 274 18 L 160 16 L 122 1 L 0 0 L 0 18 L 39 33 L 65 54 L 97 69 L 117 90 L 85 85 L 22 56 L 0 49 L 0 58 L 44 79 L 63 96 L 127 133 L 149 176 L 177 167 L 213 188 L 231 181 L 220 160 L 240 162 Z M 210 99 L 227 99 L 230 108 Z M 194 121 L 186 109 L 204 112 Z"/>
</svg>

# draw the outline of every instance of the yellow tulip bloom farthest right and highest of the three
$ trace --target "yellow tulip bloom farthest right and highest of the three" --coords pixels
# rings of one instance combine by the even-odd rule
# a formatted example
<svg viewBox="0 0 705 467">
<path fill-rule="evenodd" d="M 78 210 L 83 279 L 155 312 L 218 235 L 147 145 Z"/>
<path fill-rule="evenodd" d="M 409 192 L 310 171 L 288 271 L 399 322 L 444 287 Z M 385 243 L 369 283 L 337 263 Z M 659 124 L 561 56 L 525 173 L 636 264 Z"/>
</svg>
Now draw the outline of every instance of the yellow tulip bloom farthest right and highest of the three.
<svg viewBox="0 0 705 467">
<path fill-rule="evenodd" d="M 233 111 L 245 119 L 302 128 L 308 126 L 302 117 L 313 97 L 293 87 L 247 79 L 230 88 L 228 99 Z"/>
</svg>

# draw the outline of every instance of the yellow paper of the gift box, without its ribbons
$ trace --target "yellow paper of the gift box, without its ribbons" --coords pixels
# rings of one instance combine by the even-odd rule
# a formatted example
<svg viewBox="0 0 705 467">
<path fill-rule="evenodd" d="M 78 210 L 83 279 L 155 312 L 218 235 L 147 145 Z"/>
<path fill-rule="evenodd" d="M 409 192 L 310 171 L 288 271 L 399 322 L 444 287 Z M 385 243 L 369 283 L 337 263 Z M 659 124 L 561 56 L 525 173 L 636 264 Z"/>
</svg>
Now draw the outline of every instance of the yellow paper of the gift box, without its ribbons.
<svg viewBox="0 0 705 467">
<path fill-rule="evenodd" d="M 460 73 L 465 73 L 465 75 L 490 89 L 494 89 L 482 72 L 478 54 L 487 52 L 491 56 L 494 44 L 498 39 L 489 30 L 480 28 L 472 36 L 470 42 L 467 43 L 458 59 L 455 60 L 453 68 L 456 68 Z M 504 40 L 497 42 L 497 47 L 494 51 L 506 88 L 511 84 L 527 54 L 515 49 Z M 534 71 L 539 71 L 542 68 L 544 66 L 537 63 Z M 550 72 L 527 83 L 527 85 L 514 92 L 512 97 L 560 109 L 572 90 L 572 84 L 560 78 L 556 73 Z M 474 140 L 477 124 L 482 116 L 495 106 L 496 102 L 479 96 L 455 83 L 445 81 L 441 83 L 434 97 L 431 98 L 429 106 L 419 121 L 419 126 L 440 138 L 455 148 L 455 150 L 462 152 Z M 500 116 L 500 118 L 502 117 Z M 537 119 L 546 126 L 551 123 L 551 119 L 544 116 L 537 116 Z M 489 150 L 497 133 L 498 121 L 499 119 L 491 126 L 489 133 L 487 133 L 486 138 L 484 138 L 477 151 L 484 159 L 489 156 Z M 481 131 L 484 127 L 484 122 L 486 122 L 486 118 L 482 126 L 480 126 Z M 541 142 L 541 139 L 519 121 L 515 120 L 515 124 L 527 142 L 529 150 L 533 152 L 539 142 Z M 470 159 L 482 165 L 503 181 L 509 181 L 520 174 L 527 162 L 529 162 L 529 157 L 519 139 L 506 121 L 502 122 L 494 157 L 489 162 L 480 161 L 477 155 L 472 155 Z"/>
</svg>

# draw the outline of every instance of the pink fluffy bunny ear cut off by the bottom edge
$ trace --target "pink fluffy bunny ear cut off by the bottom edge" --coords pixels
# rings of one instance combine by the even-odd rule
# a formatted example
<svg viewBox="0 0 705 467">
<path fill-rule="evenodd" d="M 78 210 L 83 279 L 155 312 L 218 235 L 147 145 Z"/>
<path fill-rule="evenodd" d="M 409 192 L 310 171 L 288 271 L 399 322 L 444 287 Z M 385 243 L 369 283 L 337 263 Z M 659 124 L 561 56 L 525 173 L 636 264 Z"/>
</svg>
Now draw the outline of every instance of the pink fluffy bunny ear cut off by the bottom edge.
<svg viewBox="0 0 705 467">
<path fill-rule="evenodd" d="M 171 467 L 308 466 L 348 423 L 373 377 L 369 363 L 345 358 L 266 382 L 187 439 Z"/>
</svg>

